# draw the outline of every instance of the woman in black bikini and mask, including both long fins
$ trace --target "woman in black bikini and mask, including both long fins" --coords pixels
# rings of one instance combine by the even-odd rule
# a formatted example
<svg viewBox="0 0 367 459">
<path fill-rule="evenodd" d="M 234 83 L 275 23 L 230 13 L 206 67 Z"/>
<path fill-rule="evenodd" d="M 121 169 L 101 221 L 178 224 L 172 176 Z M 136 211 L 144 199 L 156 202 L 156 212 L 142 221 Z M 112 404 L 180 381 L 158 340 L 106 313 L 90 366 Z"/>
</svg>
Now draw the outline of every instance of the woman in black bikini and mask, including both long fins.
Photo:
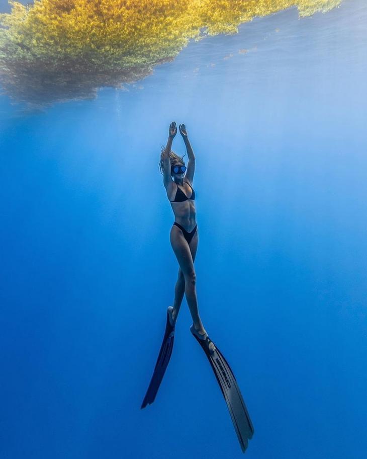
<svg viewBox="0 0 367 459">
<path fill-rule="evenodd" d="M 188 152 L 188 167 L 186 168 L 182 158 L 171 151 L 172 141 L 177 133 L 176 123 L 174 121 L 169 125 L 167 145 L 161 151 L 159 164 L 160 171 L 163 174 L 164 187 L 174 213 L 174 223 L 171 228 L 170 240 L 173 252 L 179 264 L 178 279 L 174 290 L 173 307 L 169 306 L 167 310 L 163 342 L 141 408 L 153 403 L 157 395 L 172 354 L 174 327 L 185 293 L 193 318 L 193 325 L 190 330 L 203 348 L 212 366 L 227 403 L 242 451 L 245 451 L 248 439 L 251 438 L 253 434 L 253 426 L 250 417 L 243 402 L 236 378 L 222 353 L 209 338 L 198 312 L 194 261 L 198 248 L 199 236 L 194 204 L 195 191 L 192 186 L 195 172 L 195 155 L 189 142 L 185 124 L 179 125 L 179 132 L 182 138 L 184 138 Z"/>
</svg>

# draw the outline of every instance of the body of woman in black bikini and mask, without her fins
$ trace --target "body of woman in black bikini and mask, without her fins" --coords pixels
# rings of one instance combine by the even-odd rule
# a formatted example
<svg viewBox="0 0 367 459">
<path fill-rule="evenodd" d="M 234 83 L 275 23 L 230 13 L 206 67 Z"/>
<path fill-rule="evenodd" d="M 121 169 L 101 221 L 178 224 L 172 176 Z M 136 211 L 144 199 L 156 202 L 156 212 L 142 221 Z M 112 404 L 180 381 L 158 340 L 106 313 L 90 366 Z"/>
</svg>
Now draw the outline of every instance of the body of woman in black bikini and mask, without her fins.
<svg viewBox="0 0 367 459">
<path fill-rule="evenodd" d="M 185 124 L 179 125 L 179 132 L 186 145 L 189 157 L 188 167 L 186 168 L 182 158 L 171 151 L 172 141 L 177 133 L 174 121 L 169 125 L 167 145 L 161 152 L 159 164 L 160 171 L 163 174 L 163 183 L 167 197 L 174 213 L 170 241 L 179 264 L 178 278 L 174 289 L 173 308 L 172 310 L 169 309 L 169 313 L 171 313 L 172 322 L 175 323 L 185 293 L 193 318 L 194 329 L 200 335 L 204 336 L 206 331 L 198 311 L 196 273 L 194 268 L 199 241 L 194 202 L 195 191 L 192 187 L 195 173 L 195 155 Z"/>
</svg>

